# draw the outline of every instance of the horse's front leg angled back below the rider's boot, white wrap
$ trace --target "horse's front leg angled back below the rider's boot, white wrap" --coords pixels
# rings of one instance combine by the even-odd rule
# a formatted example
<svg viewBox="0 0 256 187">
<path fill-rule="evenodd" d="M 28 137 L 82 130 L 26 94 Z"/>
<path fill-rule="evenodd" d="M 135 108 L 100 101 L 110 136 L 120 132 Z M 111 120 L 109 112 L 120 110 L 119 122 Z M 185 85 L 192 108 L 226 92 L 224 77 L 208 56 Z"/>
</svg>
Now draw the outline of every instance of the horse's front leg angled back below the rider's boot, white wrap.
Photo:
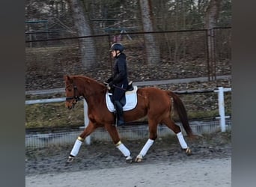
<svg viewBox="0 0 256 187">
<path fill-rule="evenodd" d="M 117 147 L 118 150 L 120 150 L 121 153 L 123 153 L 123 155 L 126 157 L 126 162 L 132 162 L 131 153 L 127 149 L 127 147 L 121 142 L 117 128 L 115 126 L 112 126 L 112 124 L 106 124 L 105 128 L 109 132 L 109 135 L 111 136 L 112 141 L 115 144 L 115 147 Z"/>
</svg>

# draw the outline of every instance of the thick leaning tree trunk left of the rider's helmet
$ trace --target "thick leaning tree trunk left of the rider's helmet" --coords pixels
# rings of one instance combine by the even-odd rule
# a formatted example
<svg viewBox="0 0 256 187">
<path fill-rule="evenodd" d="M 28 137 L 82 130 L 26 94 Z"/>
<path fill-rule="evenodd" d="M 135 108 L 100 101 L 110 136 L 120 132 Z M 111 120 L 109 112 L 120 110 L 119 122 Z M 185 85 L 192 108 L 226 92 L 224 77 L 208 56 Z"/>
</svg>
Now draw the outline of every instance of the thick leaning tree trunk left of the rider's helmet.
<svg viewBox="0 0 256 187">
<path fill-rule="evenodd" d="M 70 0 L 73 10 L 73 19 L 79 37 L 91 36 L 91 27 L 85 16 L 83 1 Z M 92 37 L 79 39 L 81 61 L 85 68 L 94 67 L 97 64 L 97 55 Z"/>
</svg>

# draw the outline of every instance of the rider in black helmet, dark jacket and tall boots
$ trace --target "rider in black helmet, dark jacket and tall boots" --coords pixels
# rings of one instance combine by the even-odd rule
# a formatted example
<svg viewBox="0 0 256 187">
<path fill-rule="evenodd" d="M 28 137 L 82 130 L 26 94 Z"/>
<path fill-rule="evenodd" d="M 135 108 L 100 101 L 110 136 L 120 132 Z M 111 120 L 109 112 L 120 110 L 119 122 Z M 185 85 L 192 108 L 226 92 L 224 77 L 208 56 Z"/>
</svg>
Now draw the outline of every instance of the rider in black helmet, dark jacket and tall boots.
<svg viewBox="0 0 256 187">
<path fill-rule="evenodd" d="M 114 74 L 106 82 L 112 88 L 112 101 L 115 106 L 116 126 L 124 125 L 123 105 L 121 98 L 128 87 L 127 60 L 124 54 L 124 46 L 121 43 L 113 43 L 111 46 L 114 62 Z"/>
</svg>

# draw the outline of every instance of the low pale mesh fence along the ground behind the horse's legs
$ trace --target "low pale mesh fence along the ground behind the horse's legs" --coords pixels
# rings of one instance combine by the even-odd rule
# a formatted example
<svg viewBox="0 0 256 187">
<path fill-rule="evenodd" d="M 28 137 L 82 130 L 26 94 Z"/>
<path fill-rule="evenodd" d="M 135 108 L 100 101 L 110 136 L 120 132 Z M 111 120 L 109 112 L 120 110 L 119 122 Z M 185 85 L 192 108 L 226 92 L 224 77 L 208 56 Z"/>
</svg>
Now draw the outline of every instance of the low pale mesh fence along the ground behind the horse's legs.
<svg viewBox="0 0 256 187">
<path fill-rule="evenodd" d="M 180 123 L 176 123 L 182 129 L 183 135 L 186 135 L 183 127 Z M 204 121 L 191 121 L 190 126 L 192 132 L 195 135 L 207 134 L 220 131 L 219 120 L 204 120 Z M 231 130 L 231 120 L 226 120 L 227 131 Z M 72 132 L 55 132 L 55 133 L 42 133 L 42 132 L 30 132 L 25 135 L 25 147 L 37 148 L 37 147 L 49 147 L 52 145 L 64 145 L 74 144 L 76 138 L 82 132 L 82 129 L 73 130 Z M 124 128 L 118 127 L 118 132 L 121 139 L 138 140 L 142 138 L 148 138 L 148 126 L 125 126 Z M 157 129 L 158 138 L 168 135 L 174 135 L 171 129 L 168 129 L 165 125 L 159 125 Z M 91 134 L 91 141 L 112 141 L 109 133 L 105 129 L 96 129 Z"/>
</svg>

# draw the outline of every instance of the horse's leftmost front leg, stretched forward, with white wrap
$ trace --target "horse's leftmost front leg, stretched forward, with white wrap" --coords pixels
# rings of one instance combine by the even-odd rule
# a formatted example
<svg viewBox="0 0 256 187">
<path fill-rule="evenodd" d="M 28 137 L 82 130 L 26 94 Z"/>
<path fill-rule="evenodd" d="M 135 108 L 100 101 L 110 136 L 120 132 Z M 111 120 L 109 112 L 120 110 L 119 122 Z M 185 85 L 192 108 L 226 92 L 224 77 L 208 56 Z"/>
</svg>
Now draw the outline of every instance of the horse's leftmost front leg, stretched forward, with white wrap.
<svg viewBox="0 0 256 187">
<path fill-rule="evenodd" d="M 85 138 L 91 134 L 91 132 L 94 132 L 94 130 L 97 127 L 94 126 L 93 123 L 91 123 L 91 121 L 89 122 L 88 126 L 86 126 L 86 128 L 84 129 L 84 131 L 79 135 L 79 137 L 76 139 L 75 144 L 73 145 L 73 149 L 71 150 L 70 156 L 67 159 L 67 162 L 72 162 L 73 159 L 77 156 L 77 154 L 79 153 L 79 149 L 82 145 L 82 142 L 85 141 Z"/>
</svg>

